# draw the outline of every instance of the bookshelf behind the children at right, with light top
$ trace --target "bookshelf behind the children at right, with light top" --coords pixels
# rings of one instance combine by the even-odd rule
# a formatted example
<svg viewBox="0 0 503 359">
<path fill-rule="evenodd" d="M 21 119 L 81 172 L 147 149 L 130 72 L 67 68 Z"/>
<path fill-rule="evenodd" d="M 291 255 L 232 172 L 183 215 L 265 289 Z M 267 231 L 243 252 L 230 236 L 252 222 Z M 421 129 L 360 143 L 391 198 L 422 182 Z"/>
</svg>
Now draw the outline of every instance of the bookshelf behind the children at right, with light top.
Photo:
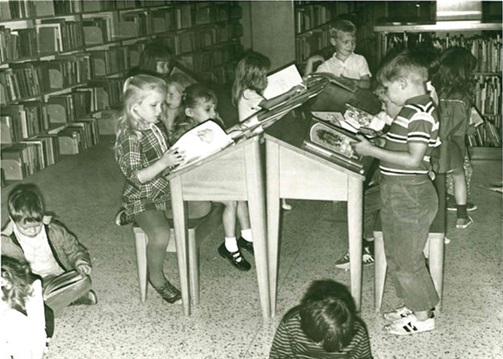
<svg viewBox="0 0 503 359">
<path fill-rule="evenodd" d="M 423 25 L 375 26 L 378 55 L 391 49 L 418 44 L 433 45 L 440 50 L 452 46 L 469 49 L 478 59 L 475 72 L 475 106 L 485 123 L 474 135 L 467 136 L 473 159 L 502 157 L 502 24 L 480 21 L 444 21 Z"/>
</svg>

